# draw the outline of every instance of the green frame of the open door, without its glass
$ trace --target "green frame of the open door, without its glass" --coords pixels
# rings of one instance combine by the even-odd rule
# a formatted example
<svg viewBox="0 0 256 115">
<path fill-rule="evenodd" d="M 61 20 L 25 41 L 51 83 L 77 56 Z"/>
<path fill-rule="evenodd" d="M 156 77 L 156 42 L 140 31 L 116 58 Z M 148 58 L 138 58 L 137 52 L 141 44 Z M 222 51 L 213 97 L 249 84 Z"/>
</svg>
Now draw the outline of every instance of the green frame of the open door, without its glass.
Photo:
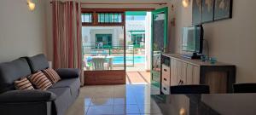
<svg viewBox="0 0 256 115">
<path fill-rule="evenodd" d="M 166 46 L 167 46 L 167 37 L 168 37 L 168 7 L 165 7 L 165 8 L 161 8 L 161 9 L 156 9 L 154 11 L 152 11 L 152 21 L 151 21 L 151 64 L 150 64 L 150 69 L 151 69 L 151 80 L 152 80 L 152 77 L 153 77 L 153 74 L 154 73 L 157 73 L 157 72 L 154 72 L 153 70 L 153 61 L 154 61 L 154 15 L 155 14 L 161 14 L 161 13 L 164 13 L 165 14 L 165 22 L 164 22 L 164 50 L 163 52 L 166 52 Z M 161 81 L 161 79 L 160 79 Z"/>
</svg>

